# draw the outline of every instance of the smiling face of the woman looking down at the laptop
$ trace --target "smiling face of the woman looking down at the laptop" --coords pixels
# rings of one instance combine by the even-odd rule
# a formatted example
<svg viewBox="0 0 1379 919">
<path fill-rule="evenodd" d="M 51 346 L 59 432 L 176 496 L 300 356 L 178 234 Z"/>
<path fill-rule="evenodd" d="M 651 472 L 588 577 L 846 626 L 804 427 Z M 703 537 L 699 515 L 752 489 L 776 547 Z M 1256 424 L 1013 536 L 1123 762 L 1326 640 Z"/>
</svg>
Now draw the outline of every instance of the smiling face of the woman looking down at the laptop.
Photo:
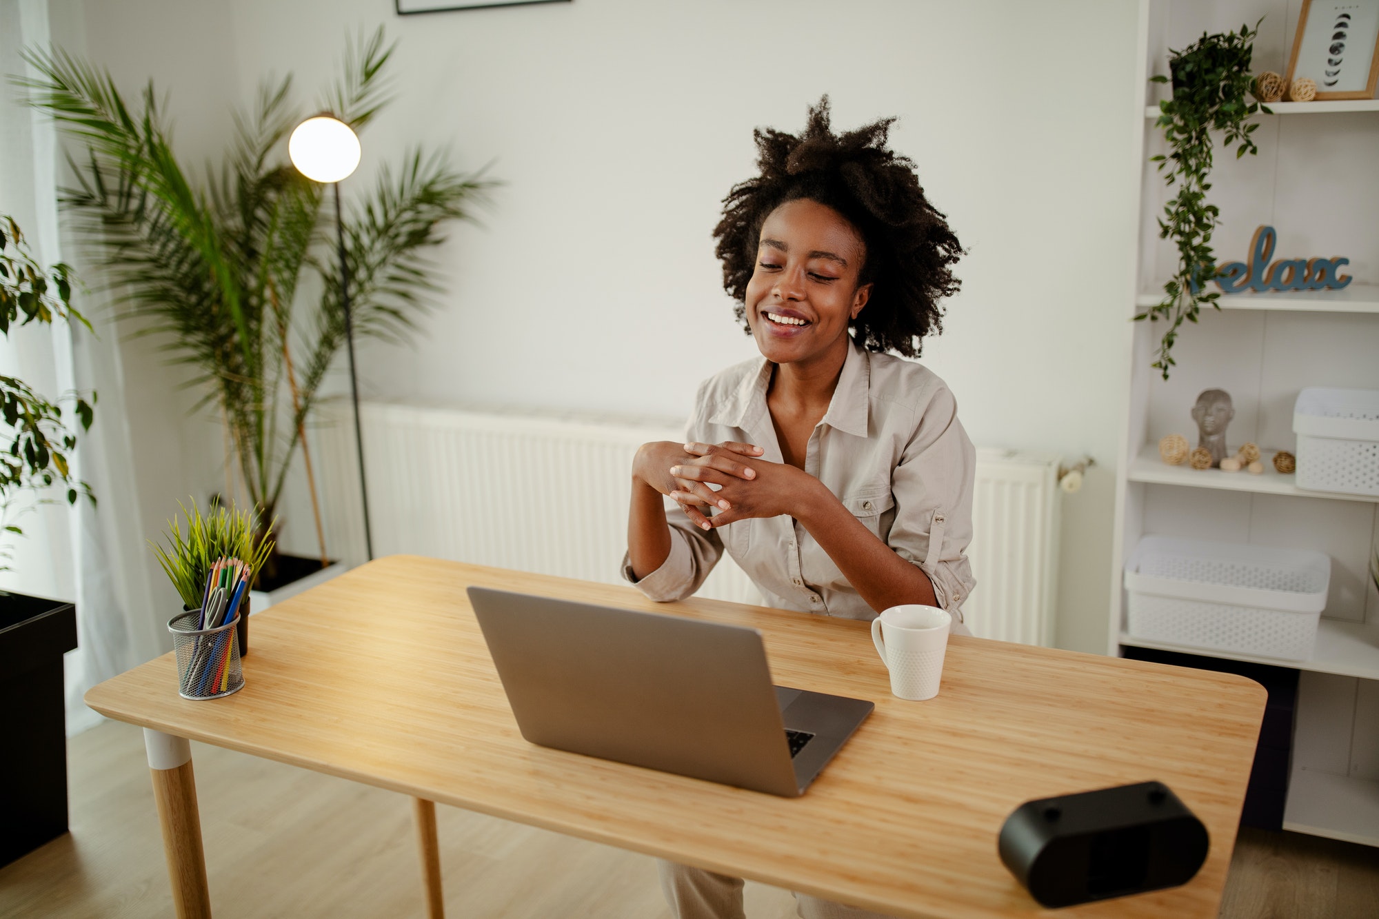
<svg viewBox="0 0 1379 919">
<path fill-rule="evenodd" d="M 841 363 L 848 322 L 872 294 L 872 284 L 858 284 L 865 259 L 862 237 L 832 207 L 796 199 L 771 211 L 746 295 L 747 323 L 767 360 Z"/>
</svg>

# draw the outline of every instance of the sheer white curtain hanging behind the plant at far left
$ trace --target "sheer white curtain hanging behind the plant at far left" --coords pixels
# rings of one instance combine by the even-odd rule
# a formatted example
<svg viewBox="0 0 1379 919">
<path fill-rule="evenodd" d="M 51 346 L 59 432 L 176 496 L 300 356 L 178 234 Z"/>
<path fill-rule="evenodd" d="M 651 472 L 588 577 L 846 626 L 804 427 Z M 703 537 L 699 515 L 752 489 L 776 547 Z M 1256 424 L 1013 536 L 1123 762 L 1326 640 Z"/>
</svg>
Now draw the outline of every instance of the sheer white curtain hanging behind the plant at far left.
<svg viewBox="0 0 1379 919">
<path fill-rule="evenodd" d="M 34 76 L 19 52 L 46 48 L 48 41 L 47 0 L 0 0 L 0 75 Z M 57 131 L 46 116 L 21 103 L 21 94 L 6 81 L 0 213 L 15 217 L 40 262 L 72 262 L 70 254 L 65 258 L 58 224 Z M 81 265 L 74 266 L 81 275 Z M 33 502 L 18 520 L 25 537 L 11 541 L 12 570 L 0 573 L 3 589 L 76 602 L 79 647 L 66 655 L 69 735 L 99 722 L 81 701 L 85 690 L 170 647 L 165 629 L 150 614 L 154 602 L 119 335 L 99 297 L 83 291 L 73 302 L 91 320 L 94 335 L 54 324 L 0 339 L 0 373 L 12 373 L 50 397 L 70 391 L 99 395 L 95 424 L 81 436 L 74 462 L 76 475 L 91 484 L 99 505 L 80 500 L 69 506 L 61 491 L 47 495 L 55 502 Z"/>
</svg>

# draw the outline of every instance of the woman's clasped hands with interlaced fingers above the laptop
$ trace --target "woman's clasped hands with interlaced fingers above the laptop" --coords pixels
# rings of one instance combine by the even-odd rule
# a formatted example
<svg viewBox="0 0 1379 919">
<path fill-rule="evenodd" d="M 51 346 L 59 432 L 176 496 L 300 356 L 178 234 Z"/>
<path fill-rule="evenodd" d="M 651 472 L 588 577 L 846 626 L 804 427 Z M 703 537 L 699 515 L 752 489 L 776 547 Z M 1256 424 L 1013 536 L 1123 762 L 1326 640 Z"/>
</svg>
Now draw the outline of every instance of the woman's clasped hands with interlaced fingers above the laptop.
<svg viewBox="0 0 1379 919">
<path fill-rule="evenodd" d="M 636 473 L 670 495 L 690 520 L 709 530 L 747 517 L 798 516 L 803 495 L 818 479 L 783 462 L 761 458 L 750 443 L 648 443 L 638 450 Z M 709 486 L 720 486 L 713 490 Z M 716 513 L 710 517 L 707 512 Z"/>
</svg>

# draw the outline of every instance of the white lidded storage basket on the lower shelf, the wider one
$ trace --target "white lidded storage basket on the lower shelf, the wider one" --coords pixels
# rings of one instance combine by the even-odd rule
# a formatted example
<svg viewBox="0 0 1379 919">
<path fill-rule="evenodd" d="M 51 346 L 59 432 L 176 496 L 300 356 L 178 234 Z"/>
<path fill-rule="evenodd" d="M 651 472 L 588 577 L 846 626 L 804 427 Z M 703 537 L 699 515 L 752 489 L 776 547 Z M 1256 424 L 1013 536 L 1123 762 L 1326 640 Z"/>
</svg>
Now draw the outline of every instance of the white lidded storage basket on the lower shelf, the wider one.
<svg viewBox="0 0 1379 919">
<path fill-rule="evenodd" d="M 1331 559 L 1305 549 L 1145 537 L 1125 563 L 1132 638 L 1311 657 Z"/>
</svg>

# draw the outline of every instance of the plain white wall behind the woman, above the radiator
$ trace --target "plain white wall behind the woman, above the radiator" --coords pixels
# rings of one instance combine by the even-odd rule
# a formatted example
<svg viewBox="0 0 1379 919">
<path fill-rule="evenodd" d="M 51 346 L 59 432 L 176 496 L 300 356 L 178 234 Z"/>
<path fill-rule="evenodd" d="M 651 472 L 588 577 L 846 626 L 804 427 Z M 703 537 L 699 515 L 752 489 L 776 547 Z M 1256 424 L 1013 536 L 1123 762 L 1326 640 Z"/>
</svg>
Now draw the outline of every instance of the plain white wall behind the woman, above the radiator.
<svg viewBox="0 0 1379 919">
<path fill-rule="evenodd" d="M 976 443 L 1100 462 L 1065 505 L 1059 640 L 1105 647 L 1143 95 L 1132 0 L 575 0 L 404 18 L 387 0 L 54 6 L 121 86 L 153 76 L 171 92 L 193 159 L 219 148 L 225 105 L 261 75 L 291 70 L 309 95 L 346 32 L 385 22 L 400 40 L 397 99 L 349 185 L 419 142 L 491 163 L 505 186 L 440 253 L 444 305 L 415 349 L 364 348 L 371 397 L 683 417 L 699 379 L 753 353 L 710 237 L 752 174 L 752 128 L 796 130 L 823 92 L 837 127 L 899 116 L 895 148 L 969 248 L 925 362 Z M 217 486 L 218 471 L 199 475 Z"/>
</svg>

